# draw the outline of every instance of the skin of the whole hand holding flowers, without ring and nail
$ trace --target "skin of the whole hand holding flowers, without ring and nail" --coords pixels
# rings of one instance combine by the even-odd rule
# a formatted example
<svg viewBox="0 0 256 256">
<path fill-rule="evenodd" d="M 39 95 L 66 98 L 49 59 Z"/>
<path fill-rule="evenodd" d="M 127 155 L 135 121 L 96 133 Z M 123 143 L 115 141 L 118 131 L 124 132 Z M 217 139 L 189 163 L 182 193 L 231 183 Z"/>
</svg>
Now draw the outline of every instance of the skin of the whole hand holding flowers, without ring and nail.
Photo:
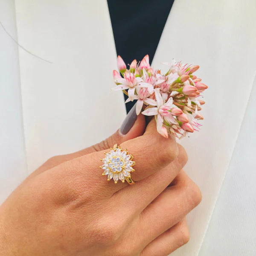
<svg viewBox="0 0 256 256">
<path fill-rule="evenodd" d="M 186 244 L 201 192 L 175 138 L 160 136 L 154 120 L 144 127 L 140 115 L 128 134 L 52 157 L 27 177 L 0 207 L 1 255 L 167 256 Z M 101 176 L 115 143 L 134 156 L 133 186 Z"/>
</svg>

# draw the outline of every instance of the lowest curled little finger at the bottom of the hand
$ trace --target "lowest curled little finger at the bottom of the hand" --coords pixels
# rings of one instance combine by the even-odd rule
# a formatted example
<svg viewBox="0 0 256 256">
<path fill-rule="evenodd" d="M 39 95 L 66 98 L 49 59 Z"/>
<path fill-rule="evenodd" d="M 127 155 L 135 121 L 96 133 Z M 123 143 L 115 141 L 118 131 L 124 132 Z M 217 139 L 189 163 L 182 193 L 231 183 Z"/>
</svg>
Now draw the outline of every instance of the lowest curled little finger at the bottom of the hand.
<svg viewBox="0 0 256 256">
<path fill-rule="evenodd" d="M 151 241 L 140 256 L 167 256 L 189 241 L 189 228 L 186 218 Z"/>
</svg>

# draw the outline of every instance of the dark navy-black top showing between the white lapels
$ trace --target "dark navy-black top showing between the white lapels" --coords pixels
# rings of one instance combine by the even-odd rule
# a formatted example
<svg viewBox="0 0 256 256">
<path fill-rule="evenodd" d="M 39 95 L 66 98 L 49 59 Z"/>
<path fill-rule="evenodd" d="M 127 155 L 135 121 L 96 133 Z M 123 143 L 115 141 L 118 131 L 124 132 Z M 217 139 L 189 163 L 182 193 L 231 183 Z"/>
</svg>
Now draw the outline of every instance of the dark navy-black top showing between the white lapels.
<svg viewBox="0 0 256 256">
<path fill-rule="evenodd" d="M 146 54 L 151 63 L 173 2 L 174 0 L 108 0 L 116 53 L 126 64 L 134 59 L 141 61 Z M 126 104 L 127 112 L 134 103 Z"/>
</svg>

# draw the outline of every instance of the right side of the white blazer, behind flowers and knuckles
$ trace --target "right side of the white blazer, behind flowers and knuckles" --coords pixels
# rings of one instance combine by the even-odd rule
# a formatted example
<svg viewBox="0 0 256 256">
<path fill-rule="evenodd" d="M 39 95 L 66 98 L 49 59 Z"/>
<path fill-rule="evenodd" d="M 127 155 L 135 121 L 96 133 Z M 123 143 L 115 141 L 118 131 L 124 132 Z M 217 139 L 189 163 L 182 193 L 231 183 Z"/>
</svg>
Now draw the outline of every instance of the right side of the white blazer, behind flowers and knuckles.
<svg viewBox="0 0 256 256">
<path fill-rule="evenodd" d="M 247 151 L 254 149 L 255 153 L 256 145 L 239 147 L 236 142 L 240 136 L 249 136 L 244 141 L 248 143 L 250 137 L 255 136 L 255 98 L 252 99 L 250 108 L 246 108 L 256 70 L 255 20 L 255 0 L 175 0 L 154 56 L 154 67 L 160 67 L 160 62 L 171 61 L 172 58 L 200 65 L 197 75 L 209 86 L 204 93 L 206 104 L 202 106 L 202 114 L 205 120 L 201 122 L 201 131 L 180 141 L 189 156 L 184 169 L 200 187 L 203 200 L 188 215 L 191 234 L 189 243 L 173 253 L 174 256 L 196 256 L 201 248 L 201 256 L 255 255 L 255 242 L 250 244 L 250 249 L 245 254 L 230 253 L 246 252 L 247 242 L 250 243 L 255 238 L 255 220 L 252 218 L 256 212 L 255 199 L 250 203 L 246 199 L 255 197 L 255 185 L 252 182 L 248 184 L 253 187 L 243 191 L 244 198 L 239 195 L 236 186 L 230 185 L 228 179 L 236 175 L 242 166 L 253 166 L 252 162 L 246 162 L 246 156 Z M 245 112 L 250 119 L 250 125 L 241 126 L 244 124 Z M 245 135 L 240 134 L 241 127 Z M 236 168 L 239 168 L 236 170 L 232 169 L 234 163 L 230 162 L 232 156 L 235 156 L 235 147 L 235 154 L 239 157 L 235 159 Z M 219 194 L 228 168 L 229 176 L 225 179 L 223 188 L 228 189 L 230 198 L 226 198 L 223 192 Z M 240 169 L 240 172 L 244 170 Z M 246 173 L 253 177 L 255 164 L 252 169 L 246 169 Z M 246 178 L 249 179 L 250 177 Z M 240 186 L 238 178 L 236 182 Z M 243 184 L 246 184 L 245 180 Z M 214 218 L 207 232 L 218 197 Z M 227 205 L 235 202 L 237 206 L 246 206 L 247 210 L 235 208 L 236 212 L 229 211 Z M 221 211 L 221 207 L 225 207 L 225 211 Z M 248 211 L 248 214 L 254 212 L 254 215 L 251 213 L 247 219 L 244 211 Z M 230 214 L 233 214 L 233 218 Z M 220 220 L 216 222 L 218 218 Z M 222 218 L 227 222 L 222 221 Z M 242 223 L 247 221 L 253 221 L 253 224 L 249 222 L 243 226 Z M 244 237 L 239 235 L 240 230 L 237 227 L 244 227 Z M 206 232 L 207 240 L 204 242 Z M 234 235 L 221 239 L 221 234 L 229 232 Z M 242 239 L 243 242 L 233 241 L 234 237 Z M 233 248 L 228 250 L 231 245 Z"/>
</svg>

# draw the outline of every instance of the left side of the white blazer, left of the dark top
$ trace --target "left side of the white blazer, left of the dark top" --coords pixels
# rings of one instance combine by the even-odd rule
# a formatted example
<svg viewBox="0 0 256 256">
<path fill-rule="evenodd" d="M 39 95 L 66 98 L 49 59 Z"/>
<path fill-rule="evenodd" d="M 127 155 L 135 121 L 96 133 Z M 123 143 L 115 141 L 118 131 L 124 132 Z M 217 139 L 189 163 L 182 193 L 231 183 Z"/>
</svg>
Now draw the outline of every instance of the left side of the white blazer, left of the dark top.
<svg viewBox="0 0 256 256">
<path fill-rule="evenodd" d="M 113 134 L 125 118 L 125 105 L 122 93 L 111 91 L 116 50 L 105 1 L 0 4 L 6 30 L 30 52 L 53 62 L 18 49 L 0 28 L 2 202 L 49 157 Z"/>
</svg>

